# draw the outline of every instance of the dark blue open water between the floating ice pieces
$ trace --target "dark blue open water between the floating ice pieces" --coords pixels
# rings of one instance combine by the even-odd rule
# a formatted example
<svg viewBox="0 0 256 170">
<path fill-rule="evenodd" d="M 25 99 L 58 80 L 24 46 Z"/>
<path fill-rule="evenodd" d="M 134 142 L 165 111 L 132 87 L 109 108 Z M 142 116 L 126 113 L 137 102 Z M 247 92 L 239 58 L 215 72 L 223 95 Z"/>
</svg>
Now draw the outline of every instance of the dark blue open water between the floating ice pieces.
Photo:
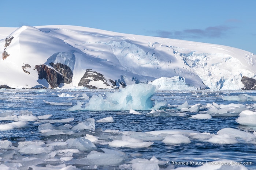
<svg viewBox="0 0 256 170">
<path fill-rule="evenodd" d="M 115 120 L 113 123 L 95 123 L 96 130 L 119 130 L 119 131 L 136 131 L 147 132 L 157 130 L 194 130 L 198 132 L 209 132 L 216 134 L 217 131 L 223 128 L 234 128 L 241 131 L 253 133 L 255 128 L 247 127 L 238 124 L 235 117 L 214 117 L 209 120 L 205 119 L 189 119 L 188 117 L 148 117 L 145 116 L 149 111 L 139 111 L 142 115 L 129 114 L 129 111 L 67 111 L 71 106 L 57 106 L 48 105 L 43 100 L 53 102 L 72 102 L 76 105 L 76 101 L 84 100 L 67 100 L 72 97 L 58 97 L 57 94 L 82 94 L 86 93 L 89 97 L 93 94 L 101 94 L 104 96 L 104 90 L 47 90 L 46 92 L 39 93 L 38 90 L 5 90 L 0 91 L 0 113 L 5 111 L 13 111 L 17 115 L 19 111 L 29 110 L 33 112 L 34 116 L 52 114 L 49 119 L 65 119 L 74 117 L 73 121 L 68 124 L 74 126 L 79 122 L 88 118 L 95 120 L 104 117 L 112 116 Z M 205 94 L 207 93 L 207 94 Z M 246 93 L 251 96 L 256 96 L 254 91 L 159 91 L 152 100 L 167 101 L 168 106 L 163 108 L 166 112 L 173 111 L 177 105 L 183 104 L 188 101 L 189 105 L 200 103 L 202 106 L 212 102 L 218 104 L 240 103 L 244 105 L 251 105 L 256 101 L 224 101 L 223 96 L 237 96 L 238 94 Z M 203 95 L 202 95 L 203 94 Z M 88 102 L 85 101 L 85 103 Z M 207 111 L 201 108 L 200 111 Z M 178 111 L 177 111 L 178 112 Z M 192 116 L 197 113 L 189 113 Z M 0 121 L 1 124 L 10 123 L 12 121 Z M 53 126 L 60 126 L 66 123 L 54 123 Z M 34 121 L 29 122 L 30 127 L 2 131 L 0 132 L 1 140 L 9 140 L 17 145 L 19 141 L 34 141 L 34 140 L 47 140 L 48 138 L 42 136 L 38 131 L 38 125 Z M 127 161 L 134 158 L 147 158 L 150 159 L 155 156 L 161 161 L 217 161 L 228 159 L 236 162 L 253 162 L 253 165 L 245 165 L 248 169 L 255 169 L 256 166 L 256 144 L 249 143 L 236 143 L 236 144 L 215 144 L 209 142 L 200 142 L 199 140 L 191 140 L 189 144 L 171 145 L 165 144 L 162 141 L 152 141 L 154 144 L 146 148 L 114 148 L 130 155 Z M 108 145 L 96 144 L 97 148 L 111 148 Z M 111 148 L 113 149 L 113 148 Z M 137 154 L 137 156 L 132 156 Z M 183 165 L 177 165 L 180 167 Z M 189 165 L 193 166 L 193 165 Z M 166 166 L 163 166 L 164 168 Z"/>
</svg>

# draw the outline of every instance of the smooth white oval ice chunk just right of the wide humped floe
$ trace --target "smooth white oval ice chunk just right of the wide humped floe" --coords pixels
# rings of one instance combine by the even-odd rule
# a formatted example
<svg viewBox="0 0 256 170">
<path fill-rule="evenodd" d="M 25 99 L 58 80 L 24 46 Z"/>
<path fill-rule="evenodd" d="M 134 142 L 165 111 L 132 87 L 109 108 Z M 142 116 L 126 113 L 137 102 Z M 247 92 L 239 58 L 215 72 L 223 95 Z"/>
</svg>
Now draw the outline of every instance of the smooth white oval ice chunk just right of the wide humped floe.
<svg viewBox="0 0 256 170">
<path fill-rule="evenodd" d="M 190 139 L 187 136 L 181 134 L 175 134 L 171 136 L 166 136 L 162 142 L 166 144 L 182 144 L 182 143 L 190 143 Z"/>
</svg>

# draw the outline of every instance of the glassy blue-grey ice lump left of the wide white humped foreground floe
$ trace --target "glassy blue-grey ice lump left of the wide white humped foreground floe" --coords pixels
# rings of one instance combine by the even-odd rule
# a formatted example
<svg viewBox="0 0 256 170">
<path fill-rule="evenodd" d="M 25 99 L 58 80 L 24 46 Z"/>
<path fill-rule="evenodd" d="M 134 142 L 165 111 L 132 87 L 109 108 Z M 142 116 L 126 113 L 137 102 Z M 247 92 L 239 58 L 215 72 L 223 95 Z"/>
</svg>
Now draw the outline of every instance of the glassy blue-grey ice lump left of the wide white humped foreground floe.
<svg viewBox="0 0 256 170">
<path fill-rule="evenodd" d="M 76 138 L 76 139 L 68 139 L 66 140 L 67 147 L 69 149 L 78 149 L 79 151 L 92 151 L 96 150 L 96 146 L 88 139 L 85 138 Z"/>
</svg>

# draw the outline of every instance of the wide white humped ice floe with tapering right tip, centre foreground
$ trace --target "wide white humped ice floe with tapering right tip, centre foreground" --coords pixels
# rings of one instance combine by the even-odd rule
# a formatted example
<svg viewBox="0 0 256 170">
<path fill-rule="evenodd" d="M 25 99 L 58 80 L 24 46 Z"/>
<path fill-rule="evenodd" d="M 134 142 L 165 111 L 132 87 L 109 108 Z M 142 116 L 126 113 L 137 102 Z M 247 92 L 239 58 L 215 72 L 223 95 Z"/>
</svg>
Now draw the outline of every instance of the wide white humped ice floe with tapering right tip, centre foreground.
<svg viewBox="0 0 256 170">
<path fill-rule="evenodd" d="M 122 140 L 113 140 L 108 142 L 108 145 L 111 147 L 144 148 L 151 146 L 153 143 L 154 142 L 143 142 L 143 140 L 123 135 Z"/>
</svg>

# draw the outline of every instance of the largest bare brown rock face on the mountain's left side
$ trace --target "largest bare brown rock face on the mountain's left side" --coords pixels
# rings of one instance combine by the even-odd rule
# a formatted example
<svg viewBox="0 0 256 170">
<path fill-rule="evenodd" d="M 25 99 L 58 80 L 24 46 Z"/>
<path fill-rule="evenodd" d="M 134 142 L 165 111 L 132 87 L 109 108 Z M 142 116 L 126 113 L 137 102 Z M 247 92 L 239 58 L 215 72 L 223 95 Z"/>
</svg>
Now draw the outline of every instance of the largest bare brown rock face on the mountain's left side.
<svg viewBox="0 0 256 170">
<path fill-rule="evenodd" d="M 62 63 L 50 63 L 51 69 L 47 65 L 36 65 L 35 69 L 38 72 L 39 79 L 45 79 L 51 85 L 52 88 L 58 87 L 61 83 L 70 84 L 73 78 L 73 72 L 67 65 Z"/>
</svg>

